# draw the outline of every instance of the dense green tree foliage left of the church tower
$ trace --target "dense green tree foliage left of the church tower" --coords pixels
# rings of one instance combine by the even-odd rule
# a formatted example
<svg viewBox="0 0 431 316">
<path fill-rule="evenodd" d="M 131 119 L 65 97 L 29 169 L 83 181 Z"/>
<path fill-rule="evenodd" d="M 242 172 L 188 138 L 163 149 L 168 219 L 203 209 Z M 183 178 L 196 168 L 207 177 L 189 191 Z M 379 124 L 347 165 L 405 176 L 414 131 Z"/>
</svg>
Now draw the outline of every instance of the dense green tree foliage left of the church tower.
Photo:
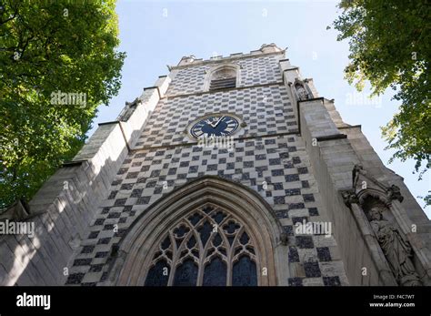
<svg viewBox="0 0 431 316">
<path fill-rule="evenodd" d="M 115 1 L 0 0 L 0 209 L 75 156 L 120 87 Z M 55 104 L 53 93 L 85 103 Z M 72 100 L 73 101 L 73 100 Z"/>
</svg>

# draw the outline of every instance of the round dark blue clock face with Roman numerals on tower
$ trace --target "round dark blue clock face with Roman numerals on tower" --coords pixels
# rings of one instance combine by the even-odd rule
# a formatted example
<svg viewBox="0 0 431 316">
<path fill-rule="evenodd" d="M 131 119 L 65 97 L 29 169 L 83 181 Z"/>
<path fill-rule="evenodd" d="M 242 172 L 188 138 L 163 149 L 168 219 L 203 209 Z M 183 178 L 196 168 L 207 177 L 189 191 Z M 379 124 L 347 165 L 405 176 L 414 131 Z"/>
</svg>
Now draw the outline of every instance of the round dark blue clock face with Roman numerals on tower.
<svg viewBox="0 0 431 316">
<path fill-rule="evenodd" d="M 190 128 L 190 134 L 194 138 L 212 138 L 230 136 L 236 132 L 239 121 L 229 115 L 213 115 L 199 120 Z"/>
</svg>

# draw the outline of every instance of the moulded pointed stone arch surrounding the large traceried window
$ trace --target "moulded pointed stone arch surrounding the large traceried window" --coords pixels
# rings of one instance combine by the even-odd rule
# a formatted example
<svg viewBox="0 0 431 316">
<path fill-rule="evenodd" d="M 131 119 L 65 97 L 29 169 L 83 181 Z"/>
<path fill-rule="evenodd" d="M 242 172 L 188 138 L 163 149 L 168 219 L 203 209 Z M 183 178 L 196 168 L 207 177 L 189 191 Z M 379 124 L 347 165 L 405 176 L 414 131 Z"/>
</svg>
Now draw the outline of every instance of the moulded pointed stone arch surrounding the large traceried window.
<svg viewBox="0 0 431 316">
<path fill-rule="evenodd" d="M 256 250 L 257 285 L 285 285 L 288 278 L 286 234 L 273 210 L 255 191 L 236 182 L 205 176 L 175 189 L 144 214 L 120 241 L 109 285 L 145 284 L 155 247 L 179 219 L 205 204 L 229 212 L 244 225 Z M 152 263 L 153 262 L 153 263 Z"/>
</svg>

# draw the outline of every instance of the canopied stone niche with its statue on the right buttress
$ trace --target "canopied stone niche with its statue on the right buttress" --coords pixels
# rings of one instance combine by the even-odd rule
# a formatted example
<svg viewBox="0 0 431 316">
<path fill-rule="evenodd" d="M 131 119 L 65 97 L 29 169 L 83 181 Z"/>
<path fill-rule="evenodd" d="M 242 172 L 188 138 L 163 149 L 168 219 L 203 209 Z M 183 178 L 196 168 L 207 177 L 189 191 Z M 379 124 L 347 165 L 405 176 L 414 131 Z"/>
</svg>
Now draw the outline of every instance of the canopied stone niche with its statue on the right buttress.
<svg viewBox="0 0 431 316">
<path fill-rule="evenodd" d="M 392 272 L 382 285 L 429 285 L 429 260 L 416 239 L 415 225 L 402 216 L 406 210 L 399 188 L 370 177 L 361 165 L 353 169 L 352 179 L 352 189 L 342 195 L 349 209 L 363 214 L 356 221 L 364 239 L 374 237 L 366 245 L 379 275 Z"/>
</svg>

